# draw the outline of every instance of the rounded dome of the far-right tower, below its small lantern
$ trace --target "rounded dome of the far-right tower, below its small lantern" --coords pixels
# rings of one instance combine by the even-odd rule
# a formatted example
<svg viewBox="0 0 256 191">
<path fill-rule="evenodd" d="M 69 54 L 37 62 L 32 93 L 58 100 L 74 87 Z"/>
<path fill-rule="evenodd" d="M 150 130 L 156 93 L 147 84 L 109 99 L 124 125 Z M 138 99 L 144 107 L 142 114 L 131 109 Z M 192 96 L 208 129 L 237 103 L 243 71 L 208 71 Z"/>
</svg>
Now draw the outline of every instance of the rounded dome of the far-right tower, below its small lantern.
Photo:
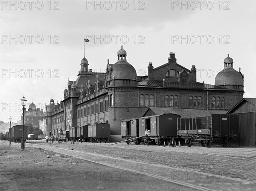
<svg viewBox="0 0 256 191">
<path fill-rule="evenodd" d="M 233 67 L 226 67 L 216 75 L 216 86 L 222 86 L 224 85 L 224 82 L 225 85 L 244 85 L 241 72 L 236 71 L 235 69 L 233 69 Z"/>
</svg>

